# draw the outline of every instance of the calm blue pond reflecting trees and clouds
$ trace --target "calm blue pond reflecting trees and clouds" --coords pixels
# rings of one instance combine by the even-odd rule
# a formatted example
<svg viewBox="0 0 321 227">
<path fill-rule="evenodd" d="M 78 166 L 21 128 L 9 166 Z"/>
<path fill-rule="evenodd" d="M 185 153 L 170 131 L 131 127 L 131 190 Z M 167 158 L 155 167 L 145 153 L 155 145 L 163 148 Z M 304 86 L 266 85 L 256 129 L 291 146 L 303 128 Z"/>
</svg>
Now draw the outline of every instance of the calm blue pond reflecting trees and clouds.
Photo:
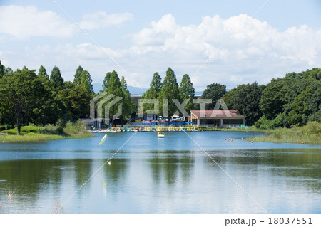
<svg viewBox="0 0 321 227">
<path fill-rule="evenodd" d="M 0 213 L 321 213 L 320 145 L 118 132 L 99 146 L 103 135 L 1 143 Z"/>
</svg>

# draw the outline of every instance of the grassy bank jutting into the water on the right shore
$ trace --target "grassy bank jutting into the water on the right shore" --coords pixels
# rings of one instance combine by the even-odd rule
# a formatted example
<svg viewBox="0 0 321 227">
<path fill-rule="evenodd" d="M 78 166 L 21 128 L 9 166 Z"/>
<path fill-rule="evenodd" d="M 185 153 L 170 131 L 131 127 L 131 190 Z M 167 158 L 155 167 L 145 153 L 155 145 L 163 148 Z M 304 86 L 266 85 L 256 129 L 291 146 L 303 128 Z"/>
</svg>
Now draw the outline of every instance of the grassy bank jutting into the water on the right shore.
<svg viewBox="0 0 321 227">
<path fill-rule="evenodd" d="M 255 142 L 290 142 L 305 144 L 321 144 L 321 124 L 308 122 L 302 127 L 277 128 L 266 132 L 266 137 L 254 137 L 248 140 Z"/>
</svg>

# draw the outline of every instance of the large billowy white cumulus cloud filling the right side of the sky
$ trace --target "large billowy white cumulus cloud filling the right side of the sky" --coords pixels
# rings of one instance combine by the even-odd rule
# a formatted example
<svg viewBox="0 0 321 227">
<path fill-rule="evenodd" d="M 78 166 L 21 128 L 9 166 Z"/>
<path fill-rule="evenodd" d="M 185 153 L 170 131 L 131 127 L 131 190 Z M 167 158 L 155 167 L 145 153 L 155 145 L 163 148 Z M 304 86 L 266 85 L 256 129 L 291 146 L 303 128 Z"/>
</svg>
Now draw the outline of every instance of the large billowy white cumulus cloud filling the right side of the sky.
<svg viewBox="0 0 321 227">
<path fill-rule="evenodd" d="M 205 16 L 198 25 L 180 26 L 167 14 L 133 34 L 131 50 L 137 56 L 148 55 L 150 61 L 166 62 L 182 75 L 193 75 L 211 58 L 193 75 L 195 85 L 216 82 L 233 88 L 239 83 L 267 83 L 293 70 L 320 67 L 320 33 L 305 25 L 280 32 L 245 14 L 229 19 Z"/>
</svg>

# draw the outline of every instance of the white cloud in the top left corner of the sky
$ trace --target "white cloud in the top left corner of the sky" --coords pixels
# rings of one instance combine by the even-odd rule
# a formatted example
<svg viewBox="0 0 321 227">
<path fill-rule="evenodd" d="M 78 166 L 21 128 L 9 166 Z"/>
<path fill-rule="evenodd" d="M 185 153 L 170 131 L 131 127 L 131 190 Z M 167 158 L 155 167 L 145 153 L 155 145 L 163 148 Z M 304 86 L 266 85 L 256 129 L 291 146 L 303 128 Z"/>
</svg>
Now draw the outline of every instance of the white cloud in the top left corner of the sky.
<svg viewBox="0 0 321 227">
<path fill-rule="evenodd" d="M 75 26 L 53 11 L 36 6 L 0 6 L 0 33 L 23 39 L 30 36 L 71 37 Z"/>
</svg>

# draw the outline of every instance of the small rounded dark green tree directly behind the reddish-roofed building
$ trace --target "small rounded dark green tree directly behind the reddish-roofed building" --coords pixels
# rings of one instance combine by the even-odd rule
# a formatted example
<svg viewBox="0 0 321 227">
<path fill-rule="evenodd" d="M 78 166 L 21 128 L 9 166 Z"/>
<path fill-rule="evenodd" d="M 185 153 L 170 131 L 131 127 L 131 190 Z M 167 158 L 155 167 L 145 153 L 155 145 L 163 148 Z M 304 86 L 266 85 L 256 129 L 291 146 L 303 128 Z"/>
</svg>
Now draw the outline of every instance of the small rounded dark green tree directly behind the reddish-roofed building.
<svg viewBox="0 0 321 227">
<path fill-rule="evenodd" d="M 207 86 L 203 91 L 203 94 L 200 98 L 202 99 L 211 99 L 212 103 L 206 105 L 207 110 L 214 110 L 216 102 L 223 97 L 226 93 L 226 86 L 220 85 L 219 83 L 212 83 Z"/>
</svg>

